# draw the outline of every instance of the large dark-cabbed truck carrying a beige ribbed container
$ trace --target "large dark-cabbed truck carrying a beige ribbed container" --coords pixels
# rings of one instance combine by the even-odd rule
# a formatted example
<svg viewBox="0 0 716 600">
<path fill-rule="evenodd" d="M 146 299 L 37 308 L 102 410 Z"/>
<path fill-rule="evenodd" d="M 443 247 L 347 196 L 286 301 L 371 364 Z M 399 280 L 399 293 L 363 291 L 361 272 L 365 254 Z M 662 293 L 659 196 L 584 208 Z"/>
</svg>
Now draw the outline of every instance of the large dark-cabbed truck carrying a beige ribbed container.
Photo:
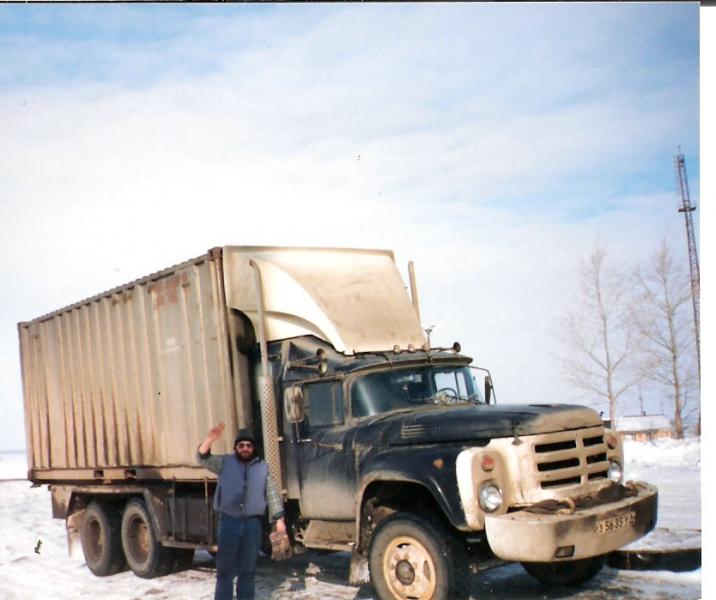
<svg viewBox="0 0 716 600">
<path fill-rule="evenodd" d="M 226 246 L 18 324 L 28 479 L 98 576 L 216 550 L 216 423 L 253 428 L 290 540 L 350 553 L 384 599 L 469 593 L 506 561 L 594 577 L 651 531 L 619 436 L 584 406 L 500 404 L 458 343 L 431 347 L 387 250 Z M 232 452 L 231 435 L 215 445 Z"/>
</svg>

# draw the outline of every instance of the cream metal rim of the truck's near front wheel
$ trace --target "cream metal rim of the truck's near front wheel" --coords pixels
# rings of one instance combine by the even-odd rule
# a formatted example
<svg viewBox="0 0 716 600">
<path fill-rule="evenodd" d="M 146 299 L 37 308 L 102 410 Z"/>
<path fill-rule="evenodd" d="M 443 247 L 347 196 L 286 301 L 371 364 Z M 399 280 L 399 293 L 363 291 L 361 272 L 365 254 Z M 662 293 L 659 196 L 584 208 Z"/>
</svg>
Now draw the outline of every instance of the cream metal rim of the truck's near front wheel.
<svg viewBox="0 0 716 600">
<path fill-rule="evenodd" d="M 394 598 L 428 600 L 435 593 L 435 562 L 410 536 L 391 540 L 383 555 L 383 576 Z"/>
</svg>

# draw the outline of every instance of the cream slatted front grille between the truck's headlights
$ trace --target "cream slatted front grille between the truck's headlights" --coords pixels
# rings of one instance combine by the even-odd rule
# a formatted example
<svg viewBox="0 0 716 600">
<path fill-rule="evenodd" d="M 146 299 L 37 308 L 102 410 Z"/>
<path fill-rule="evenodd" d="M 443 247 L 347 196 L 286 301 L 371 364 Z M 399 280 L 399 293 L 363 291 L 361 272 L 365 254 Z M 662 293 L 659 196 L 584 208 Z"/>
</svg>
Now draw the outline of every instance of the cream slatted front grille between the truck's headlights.
<svg viewBox="0 0 716 600">
<path fill-rule="evenodd" d="M 534 446 L 542 489 L 569 487 L 606 479 L 609 462 L 603 430 L 565 431 L 557 439 Z M 563 438 L 563 439 L 559 439 Z"/>
</svg>

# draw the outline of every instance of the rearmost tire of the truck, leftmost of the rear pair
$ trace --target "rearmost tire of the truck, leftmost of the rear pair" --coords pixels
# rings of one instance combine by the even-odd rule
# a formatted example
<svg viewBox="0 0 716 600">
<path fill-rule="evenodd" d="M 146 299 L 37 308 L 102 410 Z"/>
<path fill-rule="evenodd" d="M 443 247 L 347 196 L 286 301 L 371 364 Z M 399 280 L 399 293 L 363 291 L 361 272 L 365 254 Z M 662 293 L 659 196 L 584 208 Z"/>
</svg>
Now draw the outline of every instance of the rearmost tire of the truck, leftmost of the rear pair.
<svg viewBox="0 0 716 600">
<path fill-rule="evenodd" d="M 80 525 L 85 562 L 98 577 L 123 571 L 127 562 L 122 552 L 119 511 L 109 504 L 91 502 Z"/>
</svg>

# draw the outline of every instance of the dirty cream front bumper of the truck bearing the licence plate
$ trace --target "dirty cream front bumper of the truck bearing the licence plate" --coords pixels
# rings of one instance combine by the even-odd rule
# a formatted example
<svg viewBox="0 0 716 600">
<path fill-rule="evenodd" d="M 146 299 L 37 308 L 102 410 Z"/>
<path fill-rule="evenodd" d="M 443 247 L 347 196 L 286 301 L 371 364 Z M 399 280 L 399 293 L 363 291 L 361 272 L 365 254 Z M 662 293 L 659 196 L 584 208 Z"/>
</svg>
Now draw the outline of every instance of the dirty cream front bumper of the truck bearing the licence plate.
<svg viewBox="0 0 716 600">
<path fill-rule="evenodd" d="M 646 535 L 656 525 L 656 487 L 639 482 L 635 490 L 634 496 L 572 514 L 521 510 L 486 515 L 487 541 L 504 560 L 555 562 L 606 554 Z"/>
</svg>

